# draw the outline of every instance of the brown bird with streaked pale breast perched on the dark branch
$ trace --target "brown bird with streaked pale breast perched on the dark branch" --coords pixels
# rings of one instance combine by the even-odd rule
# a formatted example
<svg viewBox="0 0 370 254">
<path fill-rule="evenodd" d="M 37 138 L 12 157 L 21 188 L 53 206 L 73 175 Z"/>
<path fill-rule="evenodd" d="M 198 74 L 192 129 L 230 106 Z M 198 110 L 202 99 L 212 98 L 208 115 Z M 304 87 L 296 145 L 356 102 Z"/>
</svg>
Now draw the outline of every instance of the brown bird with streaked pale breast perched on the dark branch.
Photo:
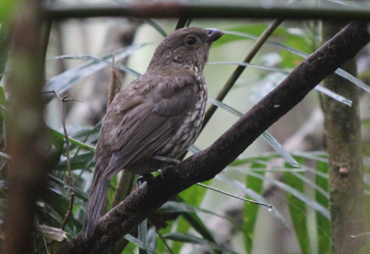
<svg viewBox="0 0 370 254">
<path fill-rule="evenodd" d="M 207 87 L 203 69 L 218 29 L 184 27 L 158 45 L 147 71 L 114 97 L 102 120 L 83 222 L 91 237 L 110 180 L 121 170 L 149 174 L 174 163 L 198 137 Z"/>
</svg>

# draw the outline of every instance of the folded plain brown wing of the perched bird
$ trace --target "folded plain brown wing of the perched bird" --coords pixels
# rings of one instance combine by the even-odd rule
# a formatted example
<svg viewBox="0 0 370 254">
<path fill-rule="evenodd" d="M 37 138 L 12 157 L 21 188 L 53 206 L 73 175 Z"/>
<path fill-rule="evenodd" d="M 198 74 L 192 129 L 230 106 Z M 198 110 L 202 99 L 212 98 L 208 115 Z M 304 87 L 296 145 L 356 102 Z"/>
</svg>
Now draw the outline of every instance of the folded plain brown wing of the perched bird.
<svg viewBox="0 0 370 254">
<path fill-rule="evenodd" d="M 137 96 L 139 103 L 126 102 L 131 107 L 122 103 L 122 110 L 115 112 L 121 121 L 114 128 L 112 157 L 104 174 L 117 174 L 126 165 L 150 157 L 165 146 L 198 100 L 198 83 L 194 76 L 162 80 L 152 86 L 154 90 Z"/>
</svg>

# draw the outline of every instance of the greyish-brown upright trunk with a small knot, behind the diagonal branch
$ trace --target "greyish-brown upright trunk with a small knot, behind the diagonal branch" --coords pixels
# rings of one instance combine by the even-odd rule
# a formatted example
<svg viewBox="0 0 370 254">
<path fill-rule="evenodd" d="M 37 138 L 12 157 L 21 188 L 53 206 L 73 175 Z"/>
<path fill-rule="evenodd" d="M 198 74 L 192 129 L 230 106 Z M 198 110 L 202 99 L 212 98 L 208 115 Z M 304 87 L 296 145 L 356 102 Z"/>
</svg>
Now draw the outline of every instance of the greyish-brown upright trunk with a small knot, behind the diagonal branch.
<svg viewBox="0 0 370 254">
<path fill-rule="evenodd" d="M 337 21 L 324 22 L 323 40 L 332 38 L 343 25 Z M 356 75 L 354 59 L 344 63 L 342 68 Z M 364 245 L 364 238 L 353 238 L 351 235 L 365 231 L 359 89 L 336 74 L 326 78 L 323 83 L 326 88 L 353 102 L 349 107 L 322 96 L 329 153 L 333 254 L 354 254 Z"/>
</svg>

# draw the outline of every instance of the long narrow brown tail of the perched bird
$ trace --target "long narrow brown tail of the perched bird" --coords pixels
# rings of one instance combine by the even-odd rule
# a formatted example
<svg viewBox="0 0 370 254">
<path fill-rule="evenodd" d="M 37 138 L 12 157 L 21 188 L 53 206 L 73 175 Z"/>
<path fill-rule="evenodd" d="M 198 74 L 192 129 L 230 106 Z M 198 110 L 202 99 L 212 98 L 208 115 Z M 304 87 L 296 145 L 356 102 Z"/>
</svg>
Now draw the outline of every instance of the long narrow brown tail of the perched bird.
<svg viewBox="0 0 370 254">
<path fill-rule="evenodd" d="M 97 168 L 95 171 L 97 171 Z M 99 173 L 100 172 L 98 172 L 98 174 Z M 95 181 L 97 181 L 97 183 L 95 183 Z M 94 232 L 95 226 L 98 224 L 100 210 L 107 194 L 109 182 L 110 180 L 104 176 L 94 175 L 89 200 L 87 201 L 84 224 L 82 226 L 84 238 L 90 237 Z"/>
</svg>

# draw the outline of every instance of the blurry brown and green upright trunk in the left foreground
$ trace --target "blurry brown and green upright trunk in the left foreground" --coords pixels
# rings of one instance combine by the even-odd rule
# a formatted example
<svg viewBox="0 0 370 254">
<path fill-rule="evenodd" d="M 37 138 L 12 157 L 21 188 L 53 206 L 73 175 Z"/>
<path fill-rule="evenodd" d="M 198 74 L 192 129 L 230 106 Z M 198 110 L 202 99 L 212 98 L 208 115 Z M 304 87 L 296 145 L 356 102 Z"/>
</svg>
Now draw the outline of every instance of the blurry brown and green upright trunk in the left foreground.
<svg viewBox="0 0 370 254">
<path fill-rule="evenodd" d="M 5 251 L 0 252 L 9 254 L 34 251 L 36 200 L 42 193 L 48 167 L 48 139 L 41 102 L 46 51 L 42 49 L 41 1 L 24 1 L 20 6 L 13 25 L 11 70 L 6 86 L 10 91 L 6 151 L 11 160 L 6 174 L 9 191 L 4 220 Z"/>
</svg>

